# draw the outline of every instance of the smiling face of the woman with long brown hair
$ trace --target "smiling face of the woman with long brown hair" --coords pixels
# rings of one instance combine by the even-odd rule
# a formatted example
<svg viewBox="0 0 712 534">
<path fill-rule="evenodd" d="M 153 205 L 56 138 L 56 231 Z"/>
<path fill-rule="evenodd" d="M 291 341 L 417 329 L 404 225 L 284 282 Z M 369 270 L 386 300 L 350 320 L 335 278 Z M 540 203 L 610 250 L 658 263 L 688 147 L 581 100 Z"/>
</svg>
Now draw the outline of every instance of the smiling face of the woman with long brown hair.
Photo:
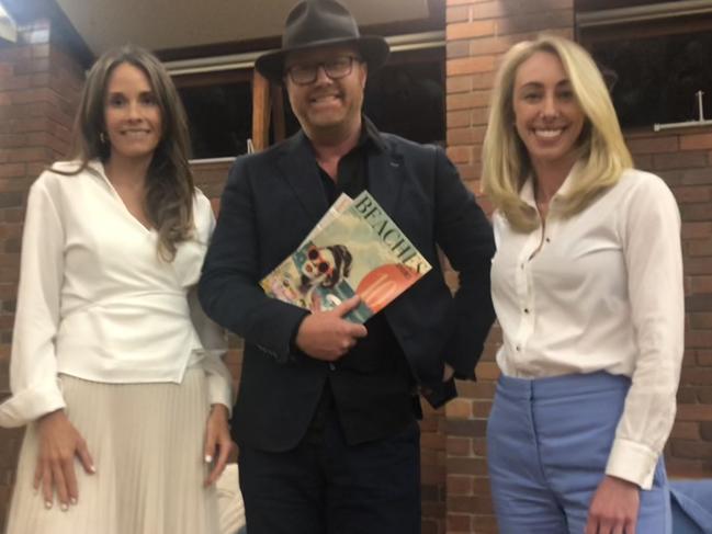
<svg viewBox="0 0 712 534">
<path fill-rule="evenodd" d="M 150 160 L 161 138 L 161 111 L 148 78 L 137 67 L 123 63 L 106 84 L 104 125 L 110 160 Z"/>
</svg>

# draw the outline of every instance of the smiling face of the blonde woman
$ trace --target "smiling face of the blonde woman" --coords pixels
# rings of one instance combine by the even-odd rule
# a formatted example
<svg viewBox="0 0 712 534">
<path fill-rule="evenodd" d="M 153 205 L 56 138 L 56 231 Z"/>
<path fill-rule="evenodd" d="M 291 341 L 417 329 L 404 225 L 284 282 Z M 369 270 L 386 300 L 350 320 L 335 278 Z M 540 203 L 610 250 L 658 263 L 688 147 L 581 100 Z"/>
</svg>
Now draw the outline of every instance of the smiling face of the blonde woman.
<svg viewBox="0 0 712 534">
<path fill-rule="evenodd" d="M 517 133 L 534 168 L 573 166 L 586 116 L 558 57 L 536 52 L 522 63 L 512 102 Z"/>
</svg>

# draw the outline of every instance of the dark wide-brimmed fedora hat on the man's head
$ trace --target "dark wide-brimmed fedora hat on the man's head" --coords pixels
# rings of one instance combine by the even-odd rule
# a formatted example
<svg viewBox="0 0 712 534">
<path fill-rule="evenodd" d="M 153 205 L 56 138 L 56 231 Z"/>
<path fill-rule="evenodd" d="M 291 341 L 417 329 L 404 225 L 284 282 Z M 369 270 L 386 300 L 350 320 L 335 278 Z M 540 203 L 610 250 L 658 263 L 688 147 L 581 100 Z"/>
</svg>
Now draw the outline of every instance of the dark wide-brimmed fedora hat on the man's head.
<svg viewBox="0 0 712 534">
<path fill-rule="evenodd" d="M 284 23 L 282 48 L 255 61 L 255 68 L 268 80 L 281 83 L 284 58 L 290 52 L 334 45 L 354 45 L 371 70 L 388 57 L 388 43 L 375 35 L 361 35 L 355 20 L 336 0 L 302 0 Z"/>
</svg>

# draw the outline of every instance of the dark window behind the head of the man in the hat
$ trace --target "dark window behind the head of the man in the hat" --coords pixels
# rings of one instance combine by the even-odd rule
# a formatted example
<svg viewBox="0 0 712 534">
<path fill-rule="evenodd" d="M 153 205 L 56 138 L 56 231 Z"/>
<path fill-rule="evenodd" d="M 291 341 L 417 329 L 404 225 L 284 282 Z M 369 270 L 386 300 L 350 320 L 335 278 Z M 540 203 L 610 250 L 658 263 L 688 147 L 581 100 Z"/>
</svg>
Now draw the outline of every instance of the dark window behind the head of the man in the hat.
<svg viewBox="0 0 712 534">
<path fill-rule="evenodd" d="M 364 112 L 378 129 L 418 143 L 444 144 L 445 52 L 441 39 L 440 32 L 394 37 L 397 43 L 388 64 L 369 76 L 364 95 Z M 174 72 L 188 113 L 194 159 L 247 152 L 255 113 L 251 61 L 258 55 L 204 58 L 205 65 L 195 60 L 167 65 Z M 270 144 L 300 128 L 286 91 L 278 87 L 272 91 Z"/>
</svg>

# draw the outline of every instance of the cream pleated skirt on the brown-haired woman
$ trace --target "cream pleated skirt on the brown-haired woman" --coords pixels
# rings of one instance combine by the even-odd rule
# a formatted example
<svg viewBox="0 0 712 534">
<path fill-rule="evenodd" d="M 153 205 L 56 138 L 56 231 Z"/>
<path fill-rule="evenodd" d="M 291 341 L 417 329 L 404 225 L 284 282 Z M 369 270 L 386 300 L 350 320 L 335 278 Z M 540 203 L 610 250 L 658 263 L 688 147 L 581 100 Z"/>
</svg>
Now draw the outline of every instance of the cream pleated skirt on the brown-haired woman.
<svg viewBox="0 0 712 534">
<path fill-rule="evenodd" d="M 179 385 L 60 380 L 97 473 L 77 461 L 78 503 L 46 510 L 32 487 L 38 439 L 30 425 L 7 534 L 217 534 L 216 490 L 203 487 L 210 407 L 201 368 L 189 368 Z"/>
</svg>

